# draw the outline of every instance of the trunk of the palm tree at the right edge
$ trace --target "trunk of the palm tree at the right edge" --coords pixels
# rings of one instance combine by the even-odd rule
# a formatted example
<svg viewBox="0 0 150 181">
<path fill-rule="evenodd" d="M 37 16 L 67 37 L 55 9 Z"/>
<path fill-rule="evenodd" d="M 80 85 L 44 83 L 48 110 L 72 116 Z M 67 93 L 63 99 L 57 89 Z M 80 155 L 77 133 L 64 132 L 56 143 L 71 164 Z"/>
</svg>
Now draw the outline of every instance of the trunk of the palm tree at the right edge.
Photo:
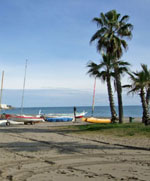
<svg viewBox="0 0 150 181">
<path fill-rule="evenodd" d="M 145 125 L 147 125 L 149 117 L 148 117 L 148 107 L 147 107 L 147 103 L 146 103 L 144 89 L 141 89 L 140 97 L 141 97 L 142 108 L 143 108 L 142 122 L 145 123 Z"/>
</svg>

